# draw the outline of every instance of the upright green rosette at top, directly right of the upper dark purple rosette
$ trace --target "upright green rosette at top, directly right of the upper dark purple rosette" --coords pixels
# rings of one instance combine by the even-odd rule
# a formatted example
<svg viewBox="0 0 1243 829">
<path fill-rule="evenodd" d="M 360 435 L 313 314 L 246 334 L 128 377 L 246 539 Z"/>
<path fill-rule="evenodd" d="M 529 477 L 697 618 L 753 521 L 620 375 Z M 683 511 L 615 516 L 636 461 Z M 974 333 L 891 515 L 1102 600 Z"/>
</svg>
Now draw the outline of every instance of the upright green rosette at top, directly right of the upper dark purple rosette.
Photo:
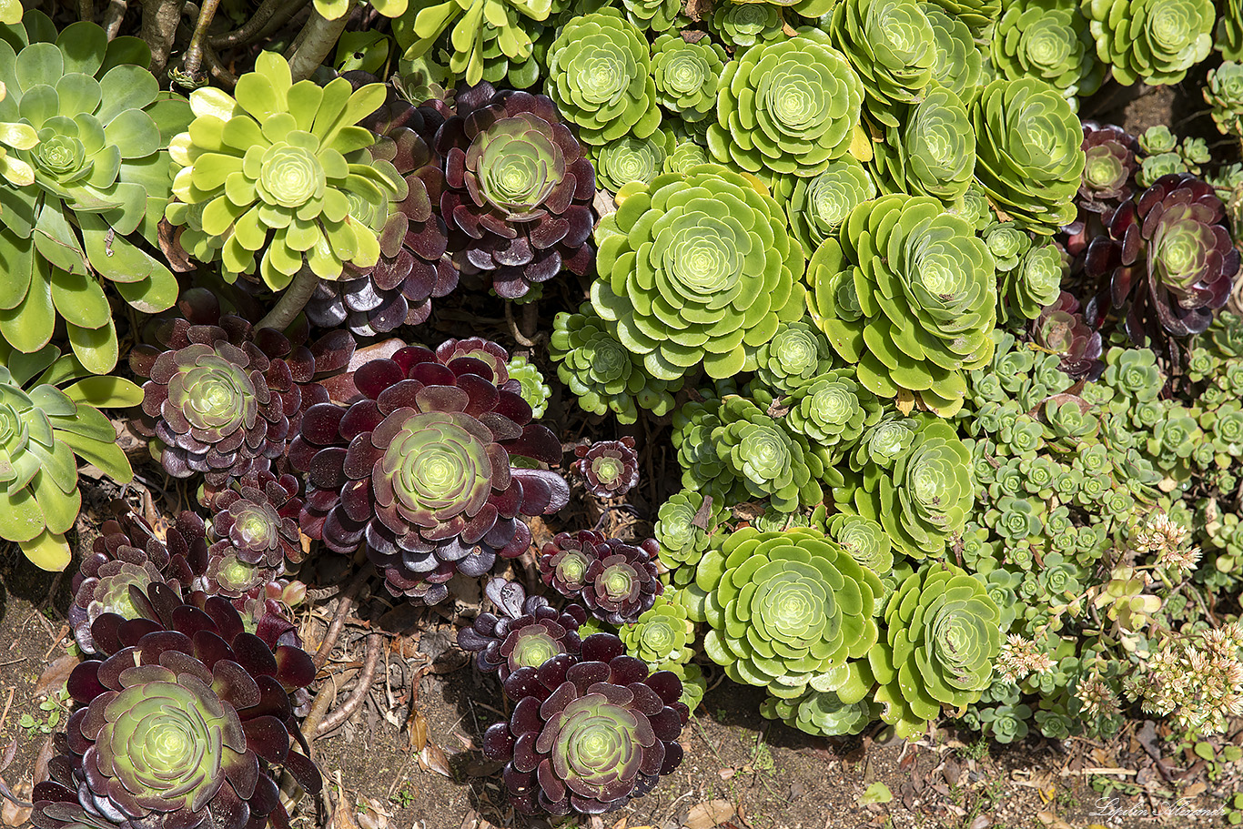
<svg viewBox="0 0 1243 829">
<path fill-rule="evenodd" d="M 548 96 L 578 126 L 579 140 L 599 145 L 660 126 L 651 50 L 617 9 L 572 19 L 548 47 Z"/>
</svg>

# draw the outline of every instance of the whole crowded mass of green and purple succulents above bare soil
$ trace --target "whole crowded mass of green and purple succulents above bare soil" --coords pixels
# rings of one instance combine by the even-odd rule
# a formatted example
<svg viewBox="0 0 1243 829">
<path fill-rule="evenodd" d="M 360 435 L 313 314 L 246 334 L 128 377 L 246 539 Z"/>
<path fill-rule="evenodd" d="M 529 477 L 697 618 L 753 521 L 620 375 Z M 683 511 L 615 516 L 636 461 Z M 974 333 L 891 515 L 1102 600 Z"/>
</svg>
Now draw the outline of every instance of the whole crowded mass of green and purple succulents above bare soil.
<svg viewBox="0 0 1243 829">
<path fill-rule="evenodd" d="M 0 2 L 0 538 L 80 553 L 39 829 L 288 825 L 323 562 L 465 610 L 522 814 L 646 794 L 712 675 L 1243 711 L 1239 148 L 1080 117 L 1203 78 L 1243 138 L 1239 2 L 251 5 Z M 123 420 L 196 505 L 91 528 Z"/>
</svg>

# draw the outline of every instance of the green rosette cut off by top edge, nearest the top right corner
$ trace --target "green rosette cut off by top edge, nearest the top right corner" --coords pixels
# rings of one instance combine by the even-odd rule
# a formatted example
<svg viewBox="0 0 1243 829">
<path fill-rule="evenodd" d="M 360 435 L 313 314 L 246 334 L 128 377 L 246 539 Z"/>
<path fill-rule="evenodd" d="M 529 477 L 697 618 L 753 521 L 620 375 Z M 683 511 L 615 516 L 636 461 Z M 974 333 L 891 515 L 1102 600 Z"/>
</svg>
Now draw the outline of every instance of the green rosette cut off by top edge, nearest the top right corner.
<svg viewBox="0 0 1243 829">
<path fill-rule="evenodd" d="M 1081 9 L 1098 57 L 1124 86 L 1178 83 L 1213 48 L 1208 0 L 1089 0 Z"/>
</svg>

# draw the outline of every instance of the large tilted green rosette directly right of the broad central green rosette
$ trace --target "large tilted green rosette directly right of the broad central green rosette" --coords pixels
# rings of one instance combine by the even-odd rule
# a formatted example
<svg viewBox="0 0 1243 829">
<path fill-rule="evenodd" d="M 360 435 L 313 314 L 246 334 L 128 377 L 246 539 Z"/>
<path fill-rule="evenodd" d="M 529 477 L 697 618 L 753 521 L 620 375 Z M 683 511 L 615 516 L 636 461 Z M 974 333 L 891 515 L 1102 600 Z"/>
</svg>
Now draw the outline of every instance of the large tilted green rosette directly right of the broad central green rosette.
<svg viewBox="0 0 1243 829">
<path fill-rule="evenodd" d="M 927 196 L 881 196 L 855 208 L 842 244 L 808 267 L 812 318 L 859 383 L 881 398 L 917 393 L 950 416 L 962 372 L 988 363 L 997 318 L 993 257 L 960 216 Z"/>
</svg>

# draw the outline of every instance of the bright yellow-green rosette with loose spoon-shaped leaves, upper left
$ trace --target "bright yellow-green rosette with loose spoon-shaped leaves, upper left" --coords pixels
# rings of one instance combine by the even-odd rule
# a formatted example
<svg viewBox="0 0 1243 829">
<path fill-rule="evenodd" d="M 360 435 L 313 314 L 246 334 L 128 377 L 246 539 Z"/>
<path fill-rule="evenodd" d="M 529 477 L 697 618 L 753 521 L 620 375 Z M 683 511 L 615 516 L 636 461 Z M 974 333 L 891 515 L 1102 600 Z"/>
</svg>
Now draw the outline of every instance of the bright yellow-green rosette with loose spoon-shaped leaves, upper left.
<svg viewBox="0 0 1243 829">
<path fill-rule="evenodd" d="M 393 164 L 367 152 L 375 135 L 357 126 L 384 103 L 384 87 L 293 83 L 285 58 L 261 52 L 235 94 L 191 92 L 195 118 L 170 145 L 167 218 L 185 225 L 181 246 L 219 259 L 230 281 L 257 267 L 273 291 L 303 267 L 336 280 L 346 262 L 374 266 L 379 232 L 409 196 Z"/>
</svg>

